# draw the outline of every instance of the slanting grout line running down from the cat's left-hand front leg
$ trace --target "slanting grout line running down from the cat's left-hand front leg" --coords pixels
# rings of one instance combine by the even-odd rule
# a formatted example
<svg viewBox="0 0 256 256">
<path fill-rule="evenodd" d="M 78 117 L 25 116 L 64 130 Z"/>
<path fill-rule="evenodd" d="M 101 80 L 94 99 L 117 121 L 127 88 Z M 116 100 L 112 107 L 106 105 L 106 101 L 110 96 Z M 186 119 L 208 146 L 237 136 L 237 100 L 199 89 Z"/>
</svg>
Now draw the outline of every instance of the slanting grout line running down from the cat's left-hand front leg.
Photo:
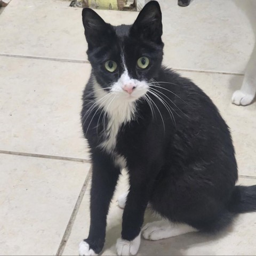
<svg viewBox="0 0 256 256">
<path fill-rule="evenodd" d="M 68 225 L 67 225 L 66 230 L 64 232 L 64 235 L 63 235 L 63 237 L 61 239 L 58 251 L 55 254 L 56 256 L 59 256 L 59 255 L 61 256 L 63 251 L 64 251 L 64 249 L 65 249 L 65 246 L 67 244 L 68 238 L 69 238 L 69 236 L 71 234 L 71 231 L 72 231 L 75 219 L 76 219 L 77 212 L 79 210 L 79 207 L 80 207 L 80 205 L 82 203 L 82 200 L 83 200 L 83 197 L 84 197 L 84 194 L 85 194 L 85 191 L 86 191 L 87 186 L 89 184 L 89 179 L 90 179 L 90 176 L 91 176 L 91 171 L 92 171 L 92 167 L 90 168 L 90 170 L 89 170 L 89 172 L 88 172 L 88 174 L 87 174 L 87 176 L 85 178 L 84 184 L 83 184 L 82 189 L 81 189 L 81 191 L 79 193 L 79 196 L 77 198 L 75 207 L 74 207 L 73 212 L 71 213 L 70 219 L 68 221 Z"/>
</svg>

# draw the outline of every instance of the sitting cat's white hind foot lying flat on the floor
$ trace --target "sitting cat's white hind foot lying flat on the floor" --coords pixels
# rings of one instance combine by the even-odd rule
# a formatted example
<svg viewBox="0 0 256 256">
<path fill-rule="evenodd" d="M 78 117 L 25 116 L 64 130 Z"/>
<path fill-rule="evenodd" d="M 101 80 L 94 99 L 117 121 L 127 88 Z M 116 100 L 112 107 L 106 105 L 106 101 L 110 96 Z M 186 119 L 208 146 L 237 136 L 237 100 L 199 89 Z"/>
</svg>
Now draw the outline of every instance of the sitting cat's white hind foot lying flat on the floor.
<svg viewBox="0 0 256 256">
<path fill-rule="evenodd" d="M 142 228 L 142 236 L 148 240 L 159 240 L 198 231 L 186 223 L 172 223 L 168 220 L 149 222 Z"/>
</svg>

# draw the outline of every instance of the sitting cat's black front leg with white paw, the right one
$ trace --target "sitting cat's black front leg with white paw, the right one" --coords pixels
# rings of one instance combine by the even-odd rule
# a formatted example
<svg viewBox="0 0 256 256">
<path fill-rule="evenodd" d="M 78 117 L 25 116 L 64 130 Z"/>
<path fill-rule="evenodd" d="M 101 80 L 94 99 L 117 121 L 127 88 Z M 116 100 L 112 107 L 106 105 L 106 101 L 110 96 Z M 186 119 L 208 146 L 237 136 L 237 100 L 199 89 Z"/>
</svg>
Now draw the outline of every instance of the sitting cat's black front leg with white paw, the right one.
<svg viewBox="0 0 256 256">
<path fill-rule="evenodd" d="M 147 167 L 135 168 L 129 174 L 130 191 L 124 207 L 122 235 L 116 243 L 118 255 L 135 255 L 139 250 L 144 213 L 156 177 L 156 171 L 150 172 Z"/>
</svg>

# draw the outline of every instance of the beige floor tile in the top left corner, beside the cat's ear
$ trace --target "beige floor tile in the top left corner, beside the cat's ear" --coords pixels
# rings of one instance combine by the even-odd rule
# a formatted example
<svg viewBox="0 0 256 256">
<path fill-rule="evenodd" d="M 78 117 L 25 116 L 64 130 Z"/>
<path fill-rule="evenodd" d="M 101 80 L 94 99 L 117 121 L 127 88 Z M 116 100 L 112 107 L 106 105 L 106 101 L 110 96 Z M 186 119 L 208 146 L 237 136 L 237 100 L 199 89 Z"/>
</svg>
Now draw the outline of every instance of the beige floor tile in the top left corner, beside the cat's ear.
<svg viewBox="0 0 256 256">
<path fill-rule="evenodd" d="M 13 0 L 0 16 L 0 52 L 85 59 L 80 8 L 68 1 Z"/>
</svg>

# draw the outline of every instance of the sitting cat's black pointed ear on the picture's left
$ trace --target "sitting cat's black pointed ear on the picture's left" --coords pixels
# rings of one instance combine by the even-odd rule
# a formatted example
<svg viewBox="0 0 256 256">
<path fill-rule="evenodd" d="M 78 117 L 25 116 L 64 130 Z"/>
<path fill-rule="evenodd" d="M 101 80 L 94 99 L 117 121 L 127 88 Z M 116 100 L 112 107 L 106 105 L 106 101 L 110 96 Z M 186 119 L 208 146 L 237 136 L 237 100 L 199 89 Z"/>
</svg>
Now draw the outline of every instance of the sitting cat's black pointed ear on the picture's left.
<svg viewBox="0 0 256 256">
<path fill-rule="evenodd" d="M 92 9 L 84 8 L 82 18 L 84 35 L 89 50 L 92 50 L 94 47 L 99 47 L 102 42 L 106 42 L 114 36 L 113 28 Z"/>
</svg>

